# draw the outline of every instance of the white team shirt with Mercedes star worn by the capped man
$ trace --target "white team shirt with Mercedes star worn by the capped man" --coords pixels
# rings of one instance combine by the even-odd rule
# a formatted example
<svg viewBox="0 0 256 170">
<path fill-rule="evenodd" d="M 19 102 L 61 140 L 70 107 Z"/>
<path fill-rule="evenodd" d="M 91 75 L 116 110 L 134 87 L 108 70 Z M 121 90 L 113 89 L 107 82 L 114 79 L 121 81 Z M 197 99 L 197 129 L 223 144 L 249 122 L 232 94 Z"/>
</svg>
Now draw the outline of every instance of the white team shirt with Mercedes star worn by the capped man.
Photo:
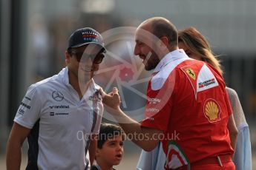
<svg viewBox="0 0 256 170">
<path fill-rule="evenodd" d="M 88 136 L 99 133 L 102 112 L 99 86 L 92 81 L 80 100 L 67 67 L 31 85 L 14 118 L 31 129 L 27 169 L 85 169 Z"/>
</svg>

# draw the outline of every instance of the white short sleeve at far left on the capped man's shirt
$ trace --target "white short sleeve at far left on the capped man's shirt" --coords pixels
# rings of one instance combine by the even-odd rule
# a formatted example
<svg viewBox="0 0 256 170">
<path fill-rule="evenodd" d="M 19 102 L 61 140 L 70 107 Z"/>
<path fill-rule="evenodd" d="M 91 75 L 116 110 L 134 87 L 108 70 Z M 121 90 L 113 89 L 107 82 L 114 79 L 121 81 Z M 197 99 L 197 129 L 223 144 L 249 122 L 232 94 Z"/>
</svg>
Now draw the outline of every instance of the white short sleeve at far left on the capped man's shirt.
<svg viewBox="0 0 256 170">
<path fill-rule="evenodd" d="M 36 87 L 30 86 L 19 105 L 14 122 L 28 129 L 32 129 L 34 123 L 39 119 L 42 102 Z"/>
</svg>

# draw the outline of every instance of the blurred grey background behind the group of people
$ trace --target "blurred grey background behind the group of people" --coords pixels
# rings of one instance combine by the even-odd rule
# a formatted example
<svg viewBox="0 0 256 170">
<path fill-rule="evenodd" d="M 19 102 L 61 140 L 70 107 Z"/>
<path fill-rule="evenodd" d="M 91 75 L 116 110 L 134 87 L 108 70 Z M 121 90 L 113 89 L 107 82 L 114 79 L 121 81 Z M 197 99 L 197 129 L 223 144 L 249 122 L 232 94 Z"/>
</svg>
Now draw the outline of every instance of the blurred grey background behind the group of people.
<svg viewBox="0 0 256 170">
<path fill-rule="evenodd" d="M 256 169 L 255 0 L 1 0 L 0 13 L 0 169 L 27 87 L 65 67 L 69 35 L 80 27 L 99 33 L 137 27 L 153 16 L 170 19 L 178 30 L 196 27 L 220 55 L 226 84 L 236 90 L 249 124 Z M 24 144 L 22 169 L 26 152 Z M 140 149 L 126 141 L 117 169 L 135 169 L 139 156 Z"/>
</svg>

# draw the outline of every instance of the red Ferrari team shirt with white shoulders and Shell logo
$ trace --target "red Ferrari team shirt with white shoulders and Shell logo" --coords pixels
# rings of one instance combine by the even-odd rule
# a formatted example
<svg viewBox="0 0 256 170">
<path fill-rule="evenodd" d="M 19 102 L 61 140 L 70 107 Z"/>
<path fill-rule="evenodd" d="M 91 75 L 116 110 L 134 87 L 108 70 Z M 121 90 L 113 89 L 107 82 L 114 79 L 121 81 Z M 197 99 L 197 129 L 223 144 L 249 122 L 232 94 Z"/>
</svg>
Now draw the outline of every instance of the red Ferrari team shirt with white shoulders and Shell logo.
<svg viewBox="0 0 256 170">
<path fill-rule="evenodd" d="M 223 78 L 183 50 L 168 53 L 148 83 L 142 126 L 160 129 L 165 169 L 232 154 L 227 123 L 232 109 Z"/>
</svg>

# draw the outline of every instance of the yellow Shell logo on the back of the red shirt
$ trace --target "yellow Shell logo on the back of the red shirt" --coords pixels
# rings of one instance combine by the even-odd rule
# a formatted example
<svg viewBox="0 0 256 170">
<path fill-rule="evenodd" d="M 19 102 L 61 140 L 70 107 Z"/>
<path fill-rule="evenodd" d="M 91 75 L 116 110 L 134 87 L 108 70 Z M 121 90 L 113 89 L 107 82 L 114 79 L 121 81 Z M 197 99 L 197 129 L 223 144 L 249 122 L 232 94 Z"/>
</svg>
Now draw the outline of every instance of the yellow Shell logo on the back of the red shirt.
<svg viewBox="0 0 256 170">
<path fill-rule="evenodd" d="M 210 123 L 220 120 L 220 106 L 212 98 L 206 100 L 203 106 L 203 112 Z"/>
</svg>

